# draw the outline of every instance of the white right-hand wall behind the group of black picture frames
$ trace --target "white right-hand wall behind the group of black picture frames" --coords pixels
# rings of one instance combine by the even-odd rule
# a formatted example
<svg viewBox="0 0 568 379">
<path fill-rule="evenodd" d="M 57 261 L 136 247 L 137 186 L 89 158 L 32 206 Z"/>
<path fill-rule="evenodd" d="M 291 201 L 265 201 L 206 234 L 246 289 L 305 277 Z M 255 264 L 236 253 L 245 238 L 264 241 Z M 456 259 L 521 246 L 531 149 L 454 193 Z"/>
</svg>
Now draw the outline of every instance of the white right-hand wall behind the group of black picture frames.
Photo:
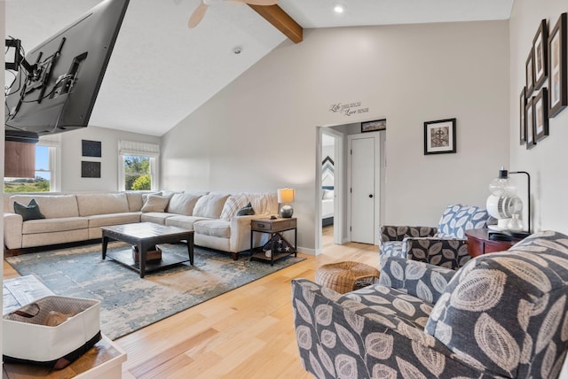
<svg viewBox="0 0 568 379">
<path fill-rule="evenodd" d="M 527 171 L 532 179 L 533 230 L 554 229 L 568 233 L 568 110 L 550 119 L 549 135 L 532 150 L 518 143 L 519 94 L 525 87 L 525 61 L 541 19 L 548 29 L 556 25 L 562 12 L 568 12 L 565 0 L 515 0 L 509 20 L 510 33 L 510 169 Z M 548 86 L 548 82 L 544 84 Z M 536 95 L 536 93 L 534 94 Z M 519 185 L 523 185 L 522 183 Z"/>
</svg>

